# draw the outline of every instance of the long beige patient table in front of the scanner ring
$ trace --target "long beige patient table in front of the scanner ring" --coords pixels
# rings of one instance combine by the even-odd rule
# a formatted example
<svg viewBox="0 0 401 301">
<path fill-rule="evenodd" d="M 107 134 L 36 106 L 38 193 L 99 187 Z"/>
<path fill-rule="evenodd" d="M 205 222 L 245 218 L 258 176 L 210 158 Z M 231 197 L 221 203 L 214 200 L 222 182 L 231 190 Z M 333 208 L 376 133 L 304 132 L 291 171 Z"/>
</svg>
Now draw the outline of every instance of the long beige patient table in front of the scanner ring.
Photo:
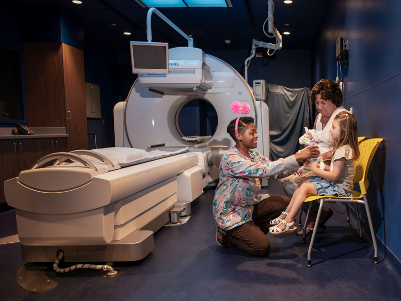
<svg viewBox="0 0 401 301">
<path fill-rule="evenodd" d="M 40 168 L 55 159 L 56 165 Z M 66 159 L 73 163 L 62 163 Z M 5 182 L 23 260 L 54 261 L 58 249 L 70 262 L 144 258 L 177 201 L 203 193 L 197 164 L 189 152 L 125 168 L 88 150 L 45 156 Z"/>
</svg>

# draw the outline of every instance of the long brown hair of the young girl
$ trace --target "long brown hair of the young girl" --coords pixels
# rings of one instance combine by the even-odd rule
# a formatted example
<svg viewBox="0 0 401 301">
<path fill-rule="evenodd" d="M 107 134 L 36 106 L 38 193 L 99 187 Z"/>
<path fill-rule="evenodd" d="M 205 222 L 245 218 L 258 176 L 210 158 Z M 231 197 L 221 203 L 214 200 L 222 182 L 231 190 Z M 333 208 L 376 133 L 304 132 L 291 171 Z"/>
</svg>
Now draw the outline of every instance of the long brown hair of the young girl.
<svg viewBox="0 0 401 301">
<path fill-rule="evenodd" d="M 358 124 L 355 115 L 347 112 L 341 112 L 334 117 L 334 120 L 338 121 L 341 136 L 340 139 L 336 141 L 337 145 L 333 150 L 333 154 L 335 153 L 336 149 L 348 144 L 352 149 L 354 155 L 353 159 L 358 160 L 360 152 L 358 147 Z"/>
</svg>

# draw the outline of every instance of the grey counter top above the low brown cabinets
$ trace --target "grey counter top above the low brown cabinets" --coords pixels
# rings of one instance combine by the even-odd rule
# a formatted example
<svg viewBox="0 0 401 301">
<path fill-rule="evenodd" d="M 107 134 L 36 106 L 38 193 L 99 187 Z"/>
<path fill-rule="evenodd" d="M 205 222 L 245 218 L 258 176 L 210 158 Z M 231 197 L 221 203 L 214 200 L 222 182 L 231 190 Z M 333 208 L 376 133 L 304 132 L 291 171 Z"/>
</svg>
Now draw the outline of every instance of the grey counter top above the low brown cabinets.
<svg viewBox="0 0 401 301">
<path fill-rule="evenodd" d="M 32 138 L 62 138 L 68 137 L 65 127 L 31 127 L 33 135 L 14 135 L 17 132 L 15 127 L 1 127 L 0 140 L 2 139 L 32 139 Z"/>
</svg>

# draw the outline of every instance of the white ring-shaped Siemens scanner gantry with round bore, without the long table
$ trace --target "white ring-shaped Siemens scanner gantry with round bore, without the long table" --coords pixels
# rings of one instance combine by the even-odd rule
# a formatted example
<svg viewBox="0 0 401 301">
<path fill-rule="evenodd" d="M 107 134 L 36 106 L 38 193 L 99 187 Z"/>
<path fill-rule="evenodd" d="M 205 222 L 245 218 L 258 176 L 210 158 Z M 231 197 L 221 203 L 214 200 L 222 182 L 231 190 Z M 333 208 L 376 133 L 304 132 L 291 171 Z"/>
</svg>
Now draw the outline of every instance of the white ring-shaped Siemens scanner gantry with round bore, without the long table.
<svg viewBox="0 0 401 301">
<path fill-rule="evenodd" d="M 265 102 L 256 101 L 244 78 L 229 64 L 197 48 L 172 48 L 168 55 L 170 74 L 139 74 L 127 101 L 116 104 L 115 145 L 140 149 L 151 149 L 153 145 L 167 149 L 188 146 L 198 155 L 206 187 L 218 180 L 218 164 L 234 145 L 227 126 L 239 116 L 230 110 L 230 105 L 238 100 L 250 105 L 247 116 L 254 118 L 259 134 L 256 149 L 269 157 L 269 109 Z M 183 137 L 178 115 L 194 99 L 208 101 L 217 112 L 218 126 L 211 137 Z"/>
</svg>

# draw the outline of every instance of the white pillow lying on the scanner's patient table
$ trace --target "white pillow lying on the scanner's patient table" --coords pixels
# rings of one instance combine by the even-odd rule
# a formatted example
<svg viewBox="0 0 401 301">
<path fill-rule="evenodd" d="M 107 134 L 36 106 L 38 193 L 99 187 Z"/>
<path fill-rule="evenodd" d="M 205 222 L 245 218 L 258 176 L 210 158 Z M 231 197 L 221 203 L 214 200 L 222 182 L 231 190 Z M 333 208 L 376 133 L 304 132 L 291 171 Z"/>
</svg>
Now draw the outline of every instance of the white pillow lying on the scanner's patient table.
<svg viewBox="0 0 401 301">
<path fill-rule="evenodd" d="M 95 148 L 91 150 L 93 152 L 99 153 L 100 155 L 103 155 L 111 162 L 117 163 L 118 165 L 128 164 L 131 162 L 148 158 L 146 150 L 130 148 L 130 147 L 107 147 L 107 148 Z M 99 160 L 93 157 L 89 156 L 84 156 L 84 157 L 91 162 L 100 162 Z"/>
</svg>

